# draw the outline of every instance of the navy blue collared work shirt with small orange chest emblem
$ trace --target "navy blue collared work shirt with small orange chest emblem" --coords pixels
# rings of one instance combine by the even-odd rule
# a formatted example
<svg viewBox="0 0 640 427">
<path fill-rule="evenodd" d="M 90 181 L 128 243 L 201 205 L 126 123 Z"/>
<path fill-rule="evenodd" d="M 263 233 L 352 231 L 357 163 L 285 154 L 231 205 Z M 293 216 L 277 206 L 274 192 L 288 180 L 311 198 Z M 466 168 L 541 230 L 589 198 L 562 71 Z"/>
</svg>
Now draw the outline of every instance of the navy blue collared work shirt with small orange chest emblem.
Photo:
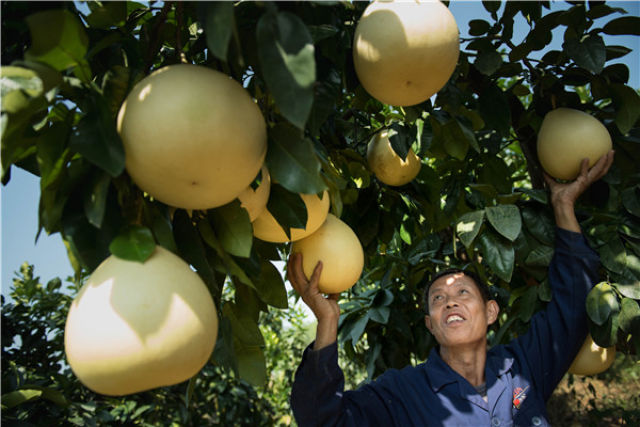
<svg viewBox="0 0 640 427">
<path fill-rule="evenodd" d="M 306 426 L 546 426 L 546 401 L 587 332 L 585 299 L 596 283 L 598 255 L 584 236 L 556 229 L 549 265 L 552 301 L 529 330 L 487 353 L 488 402 L 433 349 L 425 363 L 390 369 L 344 391 L 337 344 L 310 345 L 296 371 L 291 407 Z"/>
</svg>

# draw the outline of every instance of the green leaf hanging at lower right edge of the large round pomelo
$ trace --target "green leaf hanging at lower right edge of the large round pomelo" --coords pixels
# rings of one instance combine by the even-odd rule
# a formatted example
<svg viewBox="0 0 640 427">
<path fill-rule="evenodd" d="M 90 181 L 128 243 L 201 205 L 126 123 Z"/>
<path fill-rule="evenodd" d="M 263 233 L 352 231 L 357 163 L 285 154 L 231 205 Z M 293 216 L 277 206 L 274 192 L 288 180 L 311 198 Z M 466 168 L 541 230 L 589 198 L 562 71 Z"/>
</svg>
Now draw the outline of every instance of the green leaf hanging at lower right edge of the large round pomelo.
<svg viewBox="0 0 640 427">
<path fill-rule="evenodd" d="M 247 211 L 234 200 L 224 206 L 209 210 L 211 223 L 225 251 L 231 255 L 248 258 L 253 243 L 253 228 Z"/>
</svg>

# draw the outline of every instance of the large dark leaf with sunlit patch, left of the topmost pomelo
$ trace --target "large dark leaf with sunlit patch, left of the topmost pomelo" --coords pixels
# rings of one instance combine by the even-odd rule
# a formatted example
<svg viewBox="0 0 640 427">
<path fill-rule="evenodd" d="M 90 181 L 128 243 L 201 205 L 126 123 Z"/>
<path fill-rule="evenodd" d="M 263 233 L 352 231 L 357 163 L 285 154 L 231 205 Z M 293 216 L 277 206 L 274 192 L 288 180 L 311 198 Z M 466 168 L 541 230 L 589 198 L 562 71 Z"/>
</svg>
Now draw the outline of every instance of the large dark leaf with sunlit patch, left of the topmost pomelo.
<svg viewBox="0 0 640 427">
<path fill-rule="evenodd" d="M 309 30 L 292 13 L 265 13 L 258 21 L 257 37 L 260 66 L 269 92 L 282 115 L 304 129 L 316 80 Z"/>
</svg>

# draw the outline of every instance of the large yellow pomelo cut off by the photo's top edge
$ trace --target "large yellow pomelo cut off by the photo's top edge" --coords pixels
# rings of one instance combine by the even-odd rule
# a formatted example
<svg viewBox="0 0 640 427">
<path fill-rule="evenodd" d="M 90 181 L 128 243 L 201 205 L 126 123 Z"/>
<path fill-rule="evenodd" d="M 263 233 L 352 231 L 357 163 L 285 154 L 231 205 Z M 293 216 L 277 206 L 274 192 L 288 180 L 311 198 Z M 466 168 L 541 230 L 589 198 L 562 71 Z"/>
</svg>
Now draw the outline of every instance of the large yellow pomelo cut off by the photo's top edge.
<svg viewBox="0 0 640 427">
<path fill-rule="evenodd" d="M 415 105 L 447 83 L 460 53 L 455 18 L 438 0 L 377 1 L 358 21 L 353 62 L 380 102 Z"/>
</svg>

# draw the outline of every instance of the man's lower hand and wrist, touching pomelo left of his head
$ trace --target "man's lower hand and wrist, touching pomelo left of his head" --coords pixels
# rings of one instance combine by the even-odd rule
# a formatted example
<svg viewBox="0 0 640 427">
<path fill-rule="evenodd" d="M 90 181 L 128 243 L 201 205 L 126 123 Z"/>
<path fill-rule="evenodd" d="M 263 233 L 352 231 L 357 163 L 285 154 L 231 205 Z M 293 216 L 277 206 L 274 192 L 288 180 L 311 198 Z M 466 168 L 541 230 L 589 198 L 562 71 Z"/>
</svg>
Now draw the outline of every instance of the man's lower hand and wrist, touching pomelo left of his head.
<svg viewBox="0 0 640 427">
<path fill-rule="evenodd" d="M 318 289 L 318 281 L 322 273 L 322 262 L 318 262 L 311 278 L 307 278 L 302 270 L 302 254 L 291 254 L 287 264 L 287 278 L 293 289 L 302 297 L 302 301 L 311 309 L 318 319 L 316 342 L 314 349 L 319 350 L 333 344 L 338 337 L 338 319 L 340 294 L 325 297 Z"/>
</svg>

